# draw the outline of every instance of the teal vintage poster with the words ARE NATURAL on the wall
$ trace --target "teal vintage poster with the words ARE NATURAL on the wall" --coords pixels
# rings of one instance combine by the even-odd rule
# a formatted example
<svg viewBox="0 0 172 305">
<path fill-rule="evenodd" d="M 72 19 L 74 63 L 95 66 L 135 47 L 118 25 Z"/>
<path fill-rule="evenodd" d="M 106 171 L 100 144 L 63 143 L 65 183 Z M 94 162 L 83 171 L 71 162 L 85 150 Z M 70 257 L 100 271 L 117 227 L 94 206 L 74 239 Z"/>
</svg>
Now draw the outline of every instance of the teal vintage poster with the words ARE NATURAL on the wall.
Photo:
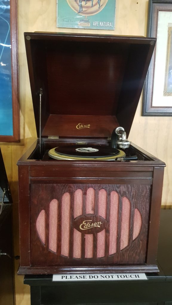
<svg viewBox="0 0 172 305">
<path fill-rule="evenodd" d="M 57 27 L 114 30 L 116 0 L 57 0 Z"/>
</svg>

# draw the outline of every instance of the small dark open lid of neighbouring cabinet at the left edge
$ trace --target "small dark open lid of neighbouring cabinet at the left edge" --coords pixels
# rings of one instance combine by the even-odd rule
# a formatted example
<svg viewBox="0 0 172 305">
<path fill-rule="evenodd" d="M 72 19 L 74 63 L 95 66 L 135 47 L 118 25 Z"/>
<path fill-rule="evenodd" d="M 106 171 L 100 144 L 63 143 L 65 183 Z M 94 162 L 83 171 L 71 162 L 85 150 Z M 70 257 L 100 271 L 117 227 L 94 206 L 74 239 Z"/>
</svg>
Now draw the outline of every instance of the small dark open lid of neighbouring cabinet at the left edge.
<svg viewBox="0 0 172 305">
<path fill-rule="evenodd" d="M 5 191 L 5 196 L 4 196 L 4 191 Z M 8 178 L 6 175 L 6 169 L 2 158 L 2 152 L 0 149 L 0 203 L 2 203 L 3 196 L 4 196 L 4 203 L 13 202 L 9 188 Z"/>
</svg>

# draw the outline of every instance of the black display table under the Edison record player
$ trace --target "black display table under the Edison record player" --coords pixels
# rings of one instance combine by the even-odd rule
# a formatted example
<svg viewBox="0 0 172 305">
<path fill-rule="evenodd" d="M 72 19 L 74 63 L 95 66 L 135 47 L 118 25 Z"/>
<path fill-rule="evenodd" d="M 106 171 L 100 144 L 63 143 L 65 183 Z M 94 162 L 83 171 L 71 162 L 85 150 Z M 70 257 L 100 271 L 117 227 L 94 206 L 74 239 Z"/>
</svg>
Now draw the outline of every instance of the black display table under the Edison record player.
<svg viewBox="0 0 172 305">
<path fill-rule="evenodd" d="M 52 282 L 52 275 L 27 275 L 24 284 L 31 287 L 31 305 L 172 305 L 172 210 L 161 211 L 158 266 L 147 281 L 62 283 Z"/>
</svg>

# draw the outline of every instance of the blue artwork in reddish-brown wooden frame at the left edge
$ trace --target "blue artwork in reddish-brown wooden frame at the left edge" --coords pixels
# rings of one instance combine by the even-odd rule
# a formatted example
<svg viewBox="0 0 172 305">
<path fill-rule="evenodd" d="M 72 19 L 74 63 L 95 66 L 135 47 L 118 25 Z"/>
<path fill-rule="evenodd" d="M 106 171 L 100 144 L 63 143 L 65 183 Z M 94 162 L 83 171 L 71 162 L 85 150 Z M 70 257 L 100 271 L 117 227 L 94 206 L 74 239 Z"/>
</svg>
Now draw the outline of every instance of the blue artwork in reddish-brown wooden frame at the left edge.
<svg viewBox="0 0 172 305">
<path fill-rule="evenodd" d="M 20 141 L 16 1 L 0 1 L 1 142 Z"/>
</svg>

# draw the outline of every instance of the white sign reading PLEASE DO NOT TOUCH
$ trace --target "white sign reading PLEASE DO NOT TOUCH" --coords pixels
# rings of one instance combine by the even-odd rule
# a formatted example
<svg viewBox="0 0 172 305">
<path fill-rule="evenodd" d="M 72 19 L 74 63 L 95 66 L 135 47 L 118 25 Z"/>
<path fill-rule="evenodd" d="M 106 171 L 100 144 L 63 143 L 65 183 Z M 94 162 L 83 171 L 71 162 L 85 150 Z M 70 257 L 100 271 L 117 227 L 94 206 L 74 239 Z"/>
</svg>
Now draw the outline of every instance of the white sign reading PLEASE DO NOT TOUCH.
<svg viewBox="0 0 172 305">
<path fill-rule="evenodd" d="M 147 280 L 145 273 L 53 274 L 54 282 Z"/>
</svg>

